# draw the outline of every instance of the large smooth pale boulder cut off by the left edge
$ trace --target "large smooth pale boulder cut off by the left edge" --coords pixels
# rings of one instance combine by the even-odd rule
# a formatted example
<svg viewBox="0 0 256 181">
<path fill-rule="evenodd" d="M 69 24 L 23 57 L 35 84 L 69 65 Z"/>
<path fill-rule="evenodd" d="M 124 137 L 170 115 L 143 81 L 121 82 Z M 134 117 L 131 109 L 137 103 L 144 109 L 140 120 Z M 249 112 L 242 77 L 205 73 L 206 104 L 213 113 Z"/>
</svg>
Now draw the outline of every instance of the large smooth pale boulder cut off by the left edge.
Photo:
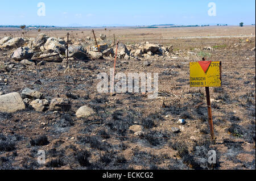
<svg viewBox="0 0 256 181">
<path fill-rule="evenodd" d="M 13 113 L 24 109 L 25 104 L 18 92 L 0 95 L 0 112 Z"/>
</svg>

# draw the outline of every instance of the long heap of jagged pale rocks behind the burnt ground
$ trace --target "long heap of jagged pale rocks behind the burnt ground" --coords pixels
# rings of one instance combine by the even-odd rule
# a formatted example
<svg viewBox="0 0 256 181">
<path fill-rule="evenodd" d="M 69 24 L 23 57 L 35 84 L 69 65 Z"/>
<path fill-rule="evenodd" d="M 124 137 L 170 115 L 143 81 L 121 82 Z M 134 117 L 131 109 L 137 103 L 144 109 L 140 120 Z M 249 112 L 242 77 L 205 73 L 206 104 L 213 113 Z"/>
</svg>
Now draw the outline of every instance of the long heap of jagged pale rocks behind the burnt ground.
<svg viewBox="0 0 256 181">
<path fill-rule="evenodd" d="M 110 41 L 106 43 L 106 35 L 100 35 L 98 46 L 94 45 L 94 41 L 90 37 L 85 39 L 69 39 L 69 47 L 67 50 L 67 37 L 56 38 L 48 37 L 40 33 L 36 38 L 22 37 L 3 37 L 0 40 L 0 48 L 5 50 L 13 50 L 11 58 L 16 61 L 30 63 L 30 59 L 46 59 L 46 60 L 64 60 L 67 55 L 74 60 L 97 60 L 102 58 L 114 57 L 115 45 Z M 163 47 L 159 44 L 144 42 L 135 45 L 118 44 L 118 58 L 137 59 L 170 56 L 174 53 L 172 46 Z M 30 61 L 30 62 L 28 62 Z M 26 64 L 27 64 L 26 63 Z M 27 64 L 33 65 L 33 64 Z"/>
</svg>

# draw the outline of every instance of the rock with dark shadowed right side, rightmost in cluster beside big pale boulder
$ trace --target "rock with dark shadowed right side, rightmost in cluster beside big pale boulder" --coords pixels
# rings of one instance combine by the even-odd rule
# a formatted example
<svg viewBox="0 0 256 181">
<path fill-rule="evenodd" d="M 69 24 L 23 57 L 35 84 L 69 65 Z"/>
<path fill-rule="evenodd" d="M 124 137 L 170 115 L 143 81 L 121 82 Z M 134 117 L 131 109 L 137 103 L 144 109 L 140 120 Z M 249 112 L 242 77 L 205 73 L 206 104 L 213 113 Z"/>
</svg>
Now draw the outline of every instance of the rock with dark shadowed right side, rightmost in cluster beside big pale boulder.
<svg viewBox="0 0 256 181">
<path fill-rule="evenodd" d="M 69 111 L 71 110 L 71 104 L 64 98 L 53 98 L 49 106 L 50 111 Z"/>
</svg>

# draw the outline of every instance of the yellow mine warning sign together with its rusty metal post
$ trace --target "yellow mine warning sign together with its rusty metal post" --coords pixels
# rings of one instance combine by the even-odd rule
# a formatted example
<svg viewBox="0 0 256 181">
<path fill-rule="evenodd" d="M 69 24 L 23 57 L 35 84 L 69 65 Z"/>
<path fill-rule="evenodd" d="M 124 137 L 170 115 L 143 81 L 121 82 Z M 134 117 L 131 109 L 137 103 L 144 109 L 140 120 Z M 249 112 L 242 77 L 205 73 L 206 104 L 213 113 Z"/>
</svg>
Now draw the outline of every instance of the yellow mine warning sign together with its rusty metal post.
<svg viewBox="0 0 256 181">
<path fill-rule="evenodd" d="M 205 60 L 205 58 L 203 58 Z M 190 86 L 205 87 L 207 95 L 208 119 L 210 125 L 210 137 L 215 139 L 212 107 L 210 106 L 210 91 L 209 87 L 221 86 L 221 62 L 220 61 L 199 61 L 190 62 Z"/>
</svg>

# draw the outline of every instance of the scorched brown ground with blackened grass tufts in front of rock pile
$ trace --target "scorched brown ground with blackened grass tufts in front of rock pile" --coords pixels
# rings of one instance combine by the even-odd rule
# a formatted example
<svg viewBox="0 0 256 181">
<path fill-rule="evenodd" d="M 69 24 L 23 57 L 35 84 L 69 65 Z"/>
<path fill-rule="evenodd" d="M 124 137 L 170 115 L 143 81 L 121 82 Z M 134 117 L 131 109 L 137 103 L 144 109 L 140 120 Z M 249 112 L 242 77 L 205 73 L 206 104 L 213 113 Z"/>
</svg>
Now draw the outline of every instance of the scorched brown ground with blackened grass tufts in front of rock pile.
<svg viewBox="0 0 256 181">
<path fill-rule="evenodd" d="M 98 94 L 97 74 L 113 67 L 113 58 L 72 61 L 65 71 L 60 62 L 25 66 L 0 51 L 1 91 L 21 93 L 25 87 L 71 102 L 70 110 L 36 112 L 27 107 L 0 113 L 1 169 L 255 169 L 255 51 L 251 45 L 214 48 L 213 60 L 222 61 L 222 87 L 210 88 L 216 141 L 210 141 L 204 88 L 189 87 L 187 50 L 178 60 L 154 57 L 117 60 L 117 72 L 159 73 L 159 96 Z M 198 53 L 196 50 L 191 52 Z M 233 62 L 232 62 L 233 61 Z M 97 115 L 77 119 L 75 112 L 88 105 Z M 168 116 L 167 116 L 168 115 Z M 179 125 L 177 120 L 186 123 Z M 142 125 L 135 136 L 129 127 Z M 173 133 L 172 127 L 180 128 Z M 46 165 L 37 162 L 46 151 Z M 217 163 L 210 165 L 208 151 Z"/>
</svg>

